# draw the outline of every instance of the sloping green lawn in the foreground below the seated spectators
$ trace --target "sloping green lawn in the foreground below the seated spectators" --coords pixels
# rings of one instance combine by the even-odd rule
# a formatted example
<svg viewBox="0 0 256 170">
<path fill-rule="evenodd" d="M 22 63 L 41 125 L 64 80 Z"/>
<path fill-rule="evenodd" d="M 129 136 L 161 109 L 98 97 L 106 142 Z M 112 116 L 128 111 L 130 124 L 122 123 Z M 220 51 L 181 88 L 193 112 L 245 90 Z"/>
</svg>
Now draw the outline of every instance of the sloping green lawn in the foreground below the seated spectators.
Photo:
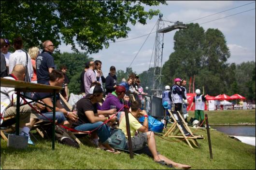
<svg viewBox="0 0 256 170">
<path fill-rule="evenodd" d="M 209 119 L 212 113 L 225 115 L 224 112 L 210 112 Z M 240 117 L 244 114 L 247 113 L 241 113 Z M 255 119 L 255 115 L 252 119 Z M 198 140 L 200 148 L 191 149 L 185 142 L 169 142 L 156 136 L 158 151 L 175 162 L 191 165 L 192 169 L 256 169 L 255 146 L 228 138 L 219 131 L 210 131 L 213 148 L 211 160 L 206 130 L 191 130 L 205 137 Z M 87 145 L 75 149 L 56 143 L 56 149 L 52 151 L 50 141 L 36 136 L 39 142 L 35 146 L 29 145 L 26 150 L 9 148 L 7 142 L 1 139 L 2 169 L 166 169 L 145 155 L 130 159 L 127 153 L 114 155 Z"/>
</svg>

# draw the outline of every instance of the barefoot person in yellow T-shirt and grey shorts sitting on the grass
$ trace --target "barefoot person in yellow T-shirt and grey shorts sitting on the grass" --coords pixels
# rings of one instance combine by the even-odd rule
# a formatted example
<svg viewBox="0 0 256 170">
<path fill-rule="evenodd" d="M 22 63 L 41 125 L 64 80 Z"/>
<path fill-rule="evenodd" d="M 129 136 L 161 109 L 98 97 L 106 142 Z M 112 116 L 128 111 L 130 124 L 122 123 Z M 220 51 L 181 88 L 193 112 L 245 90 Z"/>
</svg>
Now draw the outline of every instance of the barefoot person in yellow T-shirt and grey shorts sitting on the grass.
<svg viewBox="0 0 256 170">
<path fill-rule="evenodd" d="M 138 116 L 144 116 L 143 125 L 139 123 L 136 119 Z M 150 157 L 154 158 L 154 161 L 165 165 L 168 167 L 175 167 L 181 169 L 190 169 L 191 166 L 180 164 L 172 161 L 171 159 L 164 157 L 163 155 L 159 154 L 156 150 L 156 140 L 155 134 L 153 131 L 148 131 L 148 115 L 145 110 L 140 110 L 140 103 L 135 101 L 131 103 L 131 112 L 128 114 L 129 117 L 129 124 L 130 124 L 130 133 L 131 133 L 131 142 L 132 142 L 132 151 L 135 153 L 146 154 Z M 126 137 L 126 119 L 125 117 L 122 118 L 118 129 L 122 130 Z M 142 132 L 135 135 L 136 131 Z M 128 145 L 125 149 L 129 149 Z"/>
</svg>

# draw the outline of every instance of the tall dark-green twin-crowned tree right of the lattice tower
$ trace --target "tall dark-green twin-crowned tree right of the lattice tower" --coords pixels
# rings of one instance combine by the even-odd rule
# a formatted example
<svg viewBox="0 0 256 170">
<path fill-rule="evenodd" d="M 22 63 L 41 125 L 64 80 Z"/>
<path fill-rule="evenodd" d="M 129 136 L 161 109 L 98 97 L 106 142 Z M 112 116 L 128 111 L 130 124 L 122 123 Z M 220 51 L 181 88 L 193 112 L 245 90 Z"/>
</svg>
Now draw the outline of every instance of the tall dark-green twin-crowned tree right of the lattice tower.
<svg viewBox="0 0 256 170">
<path fill-rule="evenodd" d="M 205 93 L 231 92 L 235 67 L 227 63 L 230 52 L 225 36 L 218 29 L 209 28 L 205 32 L 198 24 L 187 26 L 188 29 L 174 35 L 174 52 L 163 65 L 164 85 L 173 84 L 176 77 L 188 80 L 195 75 L 195 88 L 204 88 Z"/>
</svg>

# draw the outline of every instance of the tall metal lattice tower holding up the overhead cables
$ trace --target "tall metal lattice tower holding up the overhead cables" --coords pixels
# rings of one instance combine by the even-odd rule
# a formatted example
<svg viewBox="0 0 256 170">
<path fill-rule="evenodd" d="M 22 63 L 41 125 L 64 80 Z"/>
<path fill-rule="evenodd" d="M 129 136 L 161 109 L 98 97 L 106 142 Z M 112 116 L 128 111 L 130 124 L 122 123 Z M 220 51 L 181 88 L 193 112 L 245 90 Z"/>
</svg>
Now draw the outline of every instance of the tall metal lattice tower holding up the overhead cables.
<svg viewBox="0 0 256 170">
<path fill-rule="evenodd" d="M 155 47 L 155 63 L 154 63 L 154 83 L 153 91 L 161 91 L 161 76 L 162 76 L 162 59 L 164 47 L 164 33 L 159 33 L 160 29 L 164 28 L 163 14 L 159 14 L 156 27 L 156 47 Z"/>
</svg>

